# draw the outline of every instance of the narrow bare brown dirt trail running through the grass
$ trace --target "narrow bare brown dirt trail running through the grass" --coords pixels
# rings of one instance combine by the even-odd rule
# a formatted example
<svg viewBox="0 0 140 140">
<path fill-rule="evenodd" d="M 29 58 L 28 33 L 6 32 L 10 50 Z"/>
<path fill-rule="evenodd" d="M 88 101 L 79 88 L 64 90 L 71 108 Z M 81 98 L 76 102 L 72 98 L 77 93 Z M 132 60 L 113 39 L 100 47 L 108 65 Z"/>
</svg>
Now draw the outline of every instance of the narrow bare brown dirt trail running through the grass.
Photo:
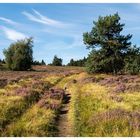
<svg viewBox="0 0 140 140">
<path fill-rule="evenodd" d="M 67 93 L 64 97 L 63 107 L 60 111 L 59 121 L 58 121 L 58 136 L 59 137 L 72 137 L 72 127 L 68 120 L 69 104 L 70 104 L 71 94 Z"/>
</svg>

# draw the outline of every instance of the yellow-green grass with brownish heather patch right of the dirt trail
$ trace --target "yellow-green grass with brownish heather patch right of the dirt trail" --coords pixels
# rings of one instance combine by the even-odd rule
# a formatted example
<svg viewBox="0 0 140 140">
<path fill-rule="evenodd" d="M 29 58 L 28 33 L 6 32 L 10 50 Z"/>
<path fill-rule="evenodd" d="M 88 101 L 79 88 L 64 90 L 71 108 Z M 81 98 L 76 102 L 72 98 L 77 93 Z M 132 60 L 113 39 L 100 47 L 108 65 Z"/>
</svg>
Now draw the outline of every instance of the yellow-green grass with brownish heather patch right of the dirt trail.
<svg viewBox="0 0 140 140">
<path fill-rule="evenodd" d="M 111 76 L 97 77 L 104 80 Z M 75 135 L 140 136 L 139 92 L 128 90 L 118 94 L 113 91 L 114 86 L 110 87 L 113 82 L 110 86 L 108 82 L 107 86 L 102 86 L 101 81 L 92 78 L 95 79 L 95 75 L 81 74 L 79 82 L 69 88 L 72 93 L 70 117 Z"/>
</svg>

